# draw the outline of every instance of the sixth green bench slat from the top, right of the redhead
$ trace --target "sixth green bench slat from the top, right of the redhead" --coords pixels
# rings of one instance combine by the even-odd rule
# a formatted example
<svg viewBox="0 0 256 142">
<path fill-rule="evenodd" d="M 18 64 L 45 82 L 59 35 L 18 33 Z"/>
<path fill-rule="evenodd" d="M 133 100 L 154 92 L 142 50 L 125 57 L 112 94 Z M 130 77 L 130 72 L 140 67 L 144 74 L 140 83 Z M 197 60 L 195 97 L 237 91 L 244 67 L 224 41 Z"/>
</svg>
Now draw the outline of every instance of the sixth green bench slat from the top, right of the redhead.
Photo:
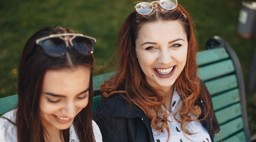
<svg viewBox="0 0 256 142">
<path fill-rule="evenodd" d="M 220 126 L 219 135 L 222 139 L 227 138 L 228 136 L 232 136 L 234 133 L 241 131 L 243 129 L 243 118 L 239 117 L 231 122 L 228 122 L 224 125 Z M 220 137 L 216 135 L 214 137 L 214 142 L 219 142 Z"/>
</svg>

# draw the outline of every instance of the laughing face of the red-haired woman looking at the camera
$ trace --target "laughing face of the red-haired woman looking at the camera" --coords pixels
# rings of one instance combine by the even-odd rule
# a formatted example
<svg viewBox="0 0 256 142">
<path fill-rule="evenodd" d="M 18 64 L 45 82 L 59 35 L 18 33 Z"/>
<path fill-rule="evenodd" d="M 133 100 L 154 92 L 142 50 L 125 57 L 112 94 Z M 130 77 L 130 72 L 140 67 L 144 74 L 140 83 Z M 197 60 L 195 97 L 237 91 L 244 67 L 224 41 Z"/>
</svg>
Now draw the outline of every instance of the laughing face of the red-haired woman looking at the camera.
<svg viewBox="0 0 256 142">
<path fill-rule="evenodd" d="M 137 37 L 135 51 L 148 84 L 163 91 L 173 90 L 188 51 L 182 24 L 178 20 L 148 22 L 141 26 Z"/>
</svg>

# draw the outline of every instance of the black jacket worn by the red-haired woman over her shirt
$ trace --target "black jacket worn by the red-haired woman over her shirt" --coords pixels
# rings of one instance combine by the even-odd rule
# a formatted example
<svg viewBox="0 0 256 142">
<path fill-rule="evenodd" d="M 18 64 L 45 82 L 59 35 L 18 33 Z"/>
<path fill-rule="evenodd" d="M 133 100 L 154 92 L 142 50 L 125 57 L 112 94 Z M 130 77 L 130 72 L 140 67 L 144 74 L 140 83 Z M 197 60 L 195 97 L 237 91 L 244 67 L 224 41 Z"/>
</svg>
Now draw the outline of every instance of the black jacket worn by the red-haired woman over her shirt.
<svg viewBox="0 0 256 142">
<path fill-rule="evenodd" d="M 210 94 L 207 95 L 211 98 Z M 200 98 L 195 103 L 201 109 L 204 107 L 203 104 Z M 200 118 L 205 116 L 203 110 Z M 101 130 L 103 142 L 154 142 L 150 122 L 145 113 L 118 94 L 104 99 L 94 112 L 93 118 Z M 213 115 L 213 126 L 209 115 L 201 123 L 209 132 L 213 142 L 213 130 L 219 130 L 215 115 Z"/>
</svg>

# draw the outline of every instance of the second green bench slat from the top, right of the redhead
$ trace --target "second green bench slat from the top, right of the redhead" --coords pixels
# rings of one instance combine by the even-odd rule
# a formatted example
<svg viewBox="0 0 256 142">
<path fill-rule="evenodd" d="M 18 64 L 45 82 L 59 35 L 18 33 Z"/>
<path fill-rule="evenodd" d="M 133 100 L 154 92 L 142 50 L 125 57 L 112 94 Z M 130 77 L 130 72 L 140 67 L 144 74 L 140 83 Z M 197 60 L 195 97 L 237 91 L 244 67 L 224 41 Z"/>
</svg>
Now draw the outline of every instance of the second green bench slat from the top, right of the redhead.
<svg viewBox="0 0 256 142">
<path fill-rule="evenodd" d="M 212 78 L 220 77 L 235 71 L 232 60 L 223 60 L 214 64 L 200 67 L 198 69 L 198 76 L 201 80 L 209 80 Z"/>
</svg>

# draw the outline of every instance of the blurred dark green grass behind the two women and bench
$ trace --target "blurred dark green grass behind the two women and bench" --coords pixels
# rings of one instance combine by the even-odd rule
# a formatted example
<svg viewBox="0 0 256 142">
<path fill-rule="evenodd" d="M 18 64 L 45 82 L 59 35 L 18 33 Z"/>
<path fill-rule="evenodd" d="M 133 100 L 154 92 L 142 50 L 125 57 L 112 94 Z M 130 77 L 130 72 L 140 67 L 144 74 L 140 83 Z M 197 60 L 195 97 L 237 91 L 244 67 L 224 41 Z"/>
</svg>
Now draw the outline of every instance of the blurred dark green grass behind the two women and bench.
<svg viewBox="0 0 256 142">
<path fill-rule="evenodd" d="M 178 0 L 192 15 L 200 50 L 212 36 L 224 38 L 240 59 L 249 79 L 256 38 L 238 36 L 241 0 Z M 116 45 L 122 22 L 137 0 L 0 0 L 0 98 L 17 94 L 17 65 L 28 38 L 43 27 L 70 27 L 97 39 L 94 75 L 115 70 L 115 63 L 103 67 Z M 256 133 L 256 100 L 247 93 L 247 111 L 252 133 Z"/>
</svg>

